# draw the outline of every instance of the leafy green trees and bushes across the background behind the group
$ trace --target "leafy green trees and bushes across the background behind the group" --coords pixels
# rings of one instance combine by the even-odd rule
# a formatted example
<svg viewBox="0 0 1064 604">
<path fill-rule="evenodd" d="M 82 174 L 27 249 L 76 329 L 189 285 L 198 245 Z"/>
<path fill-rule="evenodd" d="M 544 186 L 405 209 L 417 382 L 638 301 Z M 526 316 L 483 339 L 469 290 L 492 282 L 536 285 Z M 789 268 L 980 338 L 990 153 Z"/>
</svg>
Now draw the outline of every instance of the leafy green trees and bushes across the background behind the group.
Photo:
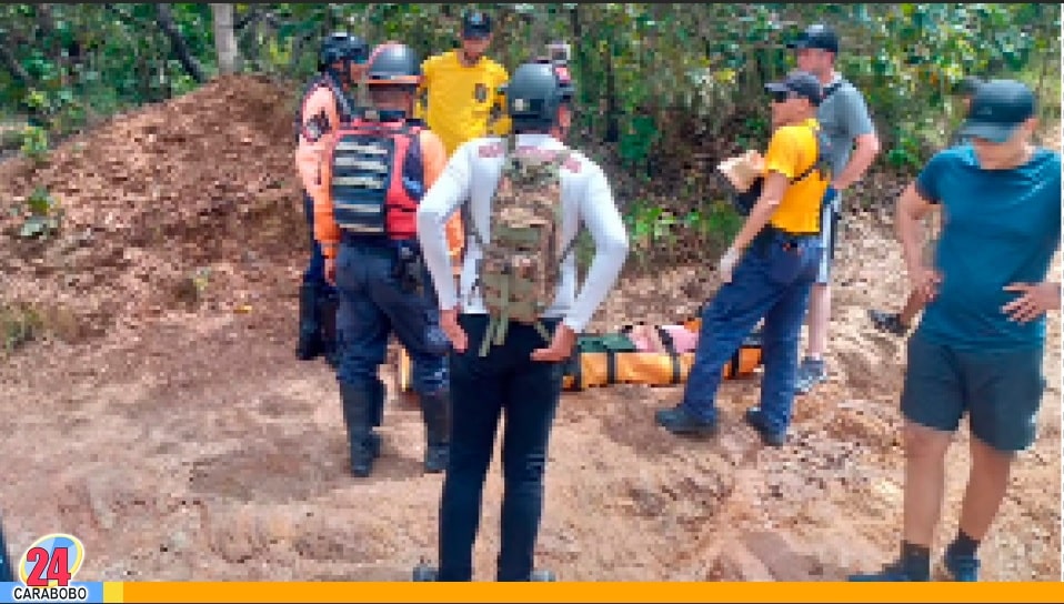
<svg viewBox="0 0 1064 604">
<path fill-rule="evenodd" d="M 961 119 L 951 90 L 966 74 L 1023 79 L 1043 117 L 1060 112 L 1060 4 L 267 3 L 232 4 L 222 23 L 220 4 L 81 3 L 0 6 L 0 117 L 29 124 L 19 149 L 42 162 L 50 142 L 188 92 L 230 62 L 292 82 L 294 100 L 335 29 L 424 54 L 452 48 L 474 6 L 492 11 L 490 52 L 510 69 L 549 41 L 571 42 L 573 142 L 632 180 L 626 199 L 655 193 L 626 203 L 636 245 L 734 229 L 713 165 L 764 144 L 762 85 L 793 67 L 784 42 L 810 22 L 841 34 L 840 70 L 865 93 L 884 144 L 874 171 L 911 174 L 946 141 Z M 220 52 L 219 31 L 235 57 Z"/>
</svg>

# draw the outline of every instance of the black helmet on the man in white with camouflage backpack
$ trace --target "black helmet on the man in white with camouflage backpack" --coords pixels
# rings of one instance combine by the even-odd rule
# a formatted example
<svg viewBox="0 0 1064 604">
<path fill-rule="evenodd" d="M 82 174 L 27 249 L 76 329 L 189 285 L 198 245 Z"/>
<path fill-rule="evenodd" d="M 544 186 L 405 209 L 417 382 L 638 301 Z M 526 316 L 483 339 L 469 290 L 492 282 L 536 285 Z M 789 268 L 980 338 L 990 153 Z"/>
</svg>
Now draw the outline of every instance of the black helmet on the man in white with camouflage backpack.
<svg viewBox="0 0 1064 604">
<path fill-rule="evenodd" d="M 568 68 L 539 59 L 519 67 L 503 91 L 514 128 L 550 128 L 575 90 Z"/>
</svg>

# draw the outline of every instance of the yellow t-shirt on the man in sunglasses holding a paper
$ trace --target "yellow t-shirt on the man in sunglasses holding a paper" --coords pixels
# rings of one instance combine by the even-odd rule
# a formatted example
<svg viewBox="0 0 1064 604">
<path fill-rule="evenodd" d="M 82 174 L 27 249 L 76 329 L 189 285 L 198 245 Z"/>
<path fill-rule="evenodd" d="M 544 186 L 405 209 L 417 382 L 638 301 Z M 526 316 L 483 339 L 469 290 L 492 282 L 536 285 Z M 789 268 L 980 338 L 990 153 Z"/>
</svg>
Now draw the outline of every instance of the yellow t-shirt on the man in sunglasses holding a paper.
<svg viewBox="0 0 1064 604">
<path fill-rule="evenodd" d="M 765 153 L 764 175 L 773 171 L 790 180 L 809 170 L 816 161 L 814 129 L 819 128 L 816 120 L 809 119 L 797 125 L 776 129 Z M 816 171 L 790 183 L 769 223 L 789 233 L 820 232 L 821 202 L 826 190 L 827 180 Z"/>
</svg>

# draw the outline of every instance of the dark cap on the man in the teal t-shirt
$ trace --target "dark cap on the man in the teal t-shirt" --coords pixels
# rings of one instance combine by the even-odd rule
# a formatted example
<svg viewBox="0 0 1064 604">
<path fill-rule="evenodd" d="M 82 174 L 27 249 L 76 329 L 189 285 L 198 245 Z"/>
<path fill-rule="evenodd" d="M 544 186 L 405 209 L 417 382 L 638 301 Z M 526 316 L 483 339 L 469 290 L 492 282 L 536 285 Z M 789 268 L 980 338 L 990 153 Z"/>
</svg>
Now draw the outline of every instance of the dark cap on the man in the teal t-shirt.
<svg viewBox="0 0 1064 604">
<path fill-rule="evenodd" d="M 1016 127 L 1034 117 L 1034 93 L 1015 80 L 991 80 L 980 84 L 972 97 L 962 137 L 1005 142 Z"/>
</svg>

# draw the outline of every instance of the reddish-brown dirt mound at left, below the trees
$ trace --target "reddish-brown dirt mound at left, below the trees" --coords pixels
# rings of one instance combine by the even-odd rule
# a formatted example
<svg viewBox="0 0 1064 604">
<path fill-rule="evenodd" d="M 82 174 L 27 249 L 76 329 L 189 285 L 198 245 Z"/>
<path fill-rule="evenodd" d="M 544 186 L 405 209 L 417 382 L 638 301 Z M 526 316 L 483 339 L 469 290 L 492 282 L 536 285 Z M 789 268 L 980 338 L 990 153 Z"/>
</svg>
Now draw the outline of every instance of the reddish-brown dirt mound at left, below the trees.
<svg viewBox="0 0 1064 604">
<path fill-rule="evenodd" d="M 290 87 L 221 78 L 72 138 L 43 165 L 0 164 L 0 199 L 44 188 L 64 212 L 47 241 L 18 238 L 21 219 L 2 219 L 4 300 L 66 308 L 76 332 L 250 302 L 261 262 L 305 245 L 292 228 L 303 220 L 292 107 Z"/>
</svg>

